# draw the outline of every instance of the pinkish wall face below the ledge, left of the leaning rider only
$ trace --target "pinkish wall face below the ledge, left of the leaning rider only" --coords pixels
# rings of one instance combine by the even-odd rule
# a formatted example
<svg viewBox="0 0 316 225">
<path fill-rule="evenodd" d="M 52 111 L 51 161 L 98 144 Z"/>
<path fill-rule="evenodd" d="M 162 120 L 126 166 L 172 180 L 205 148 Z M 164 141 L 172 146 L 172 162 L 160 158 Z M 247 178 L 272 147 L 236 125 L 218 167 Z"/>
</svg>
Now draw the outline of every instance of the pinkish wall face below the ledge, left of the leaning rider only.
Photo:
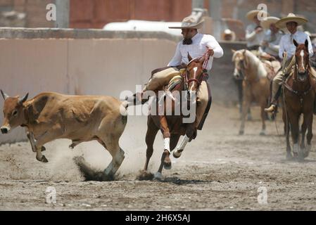
<svg viewBox="0 0 316 225">
<path fill-rule="evenodd" d="M 165 67 L 175 47 L 165 39 L 0 39 L 0 89 L 30 98 L 43 91 L 119 98 Z M 1 98 L 0 124 L 3 104 Z M 0 143 L 23 139 L 21 127 L 0 134 Z"/>
</svg>

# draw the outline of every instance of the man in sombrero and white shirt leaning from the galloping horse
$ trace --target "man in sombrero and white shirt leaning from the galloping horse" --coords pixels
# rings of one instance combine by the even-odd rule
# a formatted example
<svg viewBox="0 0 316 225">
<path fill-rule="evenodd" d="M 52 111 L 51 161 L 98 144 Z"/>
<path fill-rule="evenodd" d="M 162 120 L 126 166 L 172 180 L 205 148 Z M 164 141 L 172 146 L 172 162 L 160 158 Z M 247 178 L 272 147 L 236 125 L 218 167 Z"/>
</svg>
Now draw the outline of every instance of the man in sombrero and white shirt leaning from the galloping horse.
<svg viewBox="0 0 316 225">
<path fill-rule="evenodd" d="M 184 39 L 177 44 L 175 56 L 168 63 L 168 67 L 154 70 L 152 77 L 146 84 L 141 94 L 134 94 L 138 101 L 141 101 L 144 91 L 156 91 L 170 82 L 172 77 L 180 75 L 185 70 L 181 70 L 182 63 L 188 64 L 188 53 L 192 58 L 201 58 L 206 55 L 208 60 L 203 65 L 204 79 L 197 92 L 197 107 L 196 107 L 196 125 L 197 129 L 202 129 L 203 123 L 210 110 L 211 96 L 210 87 L 208 86 L 207 72 L 212 68 L 213 58 L 223 56 L 223 50 L 215 37 L 209 34 L 198 33 L 198 29 L 203 25 L 203 20 L 198 21 L 194 16 L 189 16 L 182 20 L 180 27 L 169 27 L 170 29 L 182 29 Z M 134 99 L 133 99 L 134 101 Z M 143 101 L 144 103 L 144 101 Z"/>
</svg>

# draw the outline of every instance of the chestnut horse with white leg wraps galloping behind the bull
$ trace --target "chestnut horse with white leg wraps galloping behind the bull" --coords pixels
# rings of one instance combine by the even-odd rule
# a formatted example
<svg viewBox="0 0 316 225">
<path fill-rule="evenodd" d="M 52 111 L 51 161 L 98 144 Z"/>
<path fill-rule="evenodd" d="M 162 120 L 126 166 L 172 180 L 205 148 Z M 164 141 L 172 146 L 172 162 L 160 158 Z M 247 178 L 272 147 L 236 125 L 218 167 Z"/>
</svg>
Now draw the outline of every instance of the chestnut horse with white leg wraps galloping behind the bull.
<svg viewBox="0 0 316 225">
<path fill-rule="evenodd" d="M 187 145 L 189 141 L 196 138 L 196 119 L 194 115 L 194 122 L 184 123 L 184 115 L 183 113 L 179 113 L 179 115 L 175 115 L 175 106 L 179 106 L 181 109 L 183 107 L 190 107 L 193 105 L 196 106 L 196 98 L 193 98 L 193 94 L 195 91 L 198 91 L 199 86 L 201 85 L 203 79 L 203 62 L 205 57 L 203 56 L 201 59 L 192 59 L 188 53 L 189 64 L 186 67 L 186 72 L 182 77 L 178 76 L 180 79 L 178 80 L 177 85 L 173 89 L 167 89 L 169 91 L 169 95 L 162 99 L 162 104 L 164 106 L 163 113 L 159 113 L 156 115 L 149 114 L 148 122 L 147 122 L 147 133 L 146 133 L 146 162 L 144 166 L 144 170 L 141 172 L 139 179 L 148 179 L 152 177 L 152 174 L 147 172 L 148 162 L 151 159 L 151 155 L 153 155 L 153 142 L 155 141 L 156 134 L 158 130 L 163 133 L 164 139 L 164 150 L 163 155 L 161 157 L 160 167 L 158 172 L 155 174 L 155 179 L 161 179 L 161 172 L 163 167 L 165 169 L 171 169 L 171 160 L 170 160 L 170 151 L 173 151 L 173 156 L 175 158 L 179 158 L 184 150 L 184 147 Z M 171 83 L 171 82 L 170 82 Z M 183 97 L 179 92 L 185 91 L 186 96 Z M 178 96 L 178 98 L 177 98 Z M 191 96 L 191 97 L 189 97 Z M 169 105 L 166 104 L 167 99 L 172 98 L 172 115 L 166 115 L 166 111 L 170 112 Z M 158 95 L 156 95 L 156 99 L 158 99 Z M 158 99 L 159 100 L 159 99 Z M 187 103 L 185 106 L 184 103 Z M 156 107 L 159 108 L 161 106 L 161 101 L 156 101 Z M 167 106 L 166 106 L 167 105 Z M 180 136 L 184 136 L 182 142 L 177 146 Z"/>
</svg>

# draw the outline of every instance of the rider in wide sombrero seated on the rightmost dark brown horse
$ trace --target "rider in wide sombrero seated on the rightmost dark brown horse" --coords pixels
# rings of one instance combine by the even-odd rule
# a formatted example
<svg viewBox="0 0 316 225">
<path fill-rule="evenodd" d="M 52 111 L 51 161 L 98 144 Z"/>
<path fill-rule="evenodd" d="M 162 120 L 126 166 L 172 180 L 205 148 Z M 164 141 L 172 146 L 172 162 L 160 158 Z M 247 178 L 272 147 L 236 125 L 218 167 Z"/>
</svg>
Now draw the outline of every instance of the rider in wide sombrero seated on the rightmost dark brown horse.
<svg viewBox="0 0 316 225">
<path fill-rule="evenodd" d="M 296 40 L 298 44 L 303 44 L 305 40 L 308 40 L 308 53 L 310 57 L 312 57 L 312 44 L 310 42 L 310 37 L 308 37 L 308 34 L 305 34 L 304 32 L 298 31 L 297 27 L 298 25 L 303 25 L 304 23 L 307 23 L 308 20 L 294 15 L 293 13 L 289 13 L 286 17 L 282 18 L 276 23 L 276 26 L 279 28 L 286 27 L 287 30 L 289 30 L 290 34 L 284 34 L 280 41 L 280 47 L 279 47 L 279 58 L 284 58 L 284 54 L 287 54 L 287 57 L 284 59 L 286 62 L 284 63 L 284 74 L 283 71 L 278 72 L 278 74 L 274 77 L 272 82 L 272 103 L 269 108 L 265 108 L 265 111 L 268 113 L 273 113 L 276 105 L 277 105 L 277 99 L 279 97 L 279 88 L 282 84 L 282 78 L 283 76 L 288 76 L 291 72 L 293 65 L 295 65 L 295 51 L 296 46 L 293 44 L 293 39 Z M 314 75 L 315 76 L 315 75 Z"/>
</svg>

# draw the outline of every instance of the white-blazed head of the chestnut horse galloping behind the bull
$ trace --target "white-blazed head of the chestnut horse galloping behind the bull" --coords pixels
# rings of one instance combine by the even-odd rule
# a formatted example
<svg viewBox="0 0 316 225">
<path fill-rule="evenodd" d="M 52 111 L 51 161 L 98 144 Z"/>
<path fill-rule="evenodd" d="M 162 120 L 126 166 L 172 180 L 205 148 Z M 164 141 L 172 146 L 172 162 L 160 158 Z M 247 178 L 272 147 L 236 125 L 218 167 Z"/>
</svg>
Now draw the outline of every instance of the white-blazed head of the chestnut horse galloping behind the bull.
<svg viewBox="0 0 316 225">
<path fill-rule="evenodd" d="M 191 93 L 192 91 L 197 91 L 198 87 L 201 85 L 203 78 L 203 63 L 205 56 L 202 58 L 191 58 L 188 53 L 189 63 L 187 65 L 187 89 Z"/>
</svg>

